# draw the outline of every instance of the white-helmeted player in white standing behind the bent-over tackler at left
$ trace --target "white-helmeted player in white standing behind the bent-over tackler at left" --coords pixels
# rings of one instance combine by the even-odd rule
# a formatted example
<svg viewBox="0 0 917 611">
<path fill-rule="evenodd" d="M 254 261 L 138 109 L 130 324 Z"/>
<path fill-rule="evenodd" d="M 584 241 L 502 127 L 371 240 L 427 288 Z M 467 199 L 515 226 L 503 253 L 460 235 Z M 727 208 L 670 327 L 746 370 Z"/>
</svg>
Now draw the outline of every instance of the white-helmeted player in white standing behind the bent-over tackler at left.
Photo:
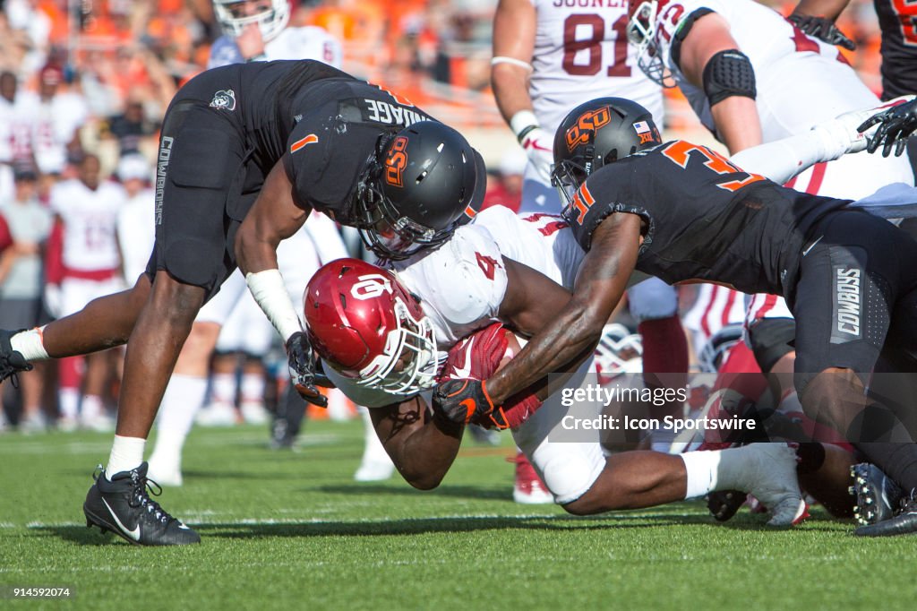
<svg viewBox="0 0 917 611">
<path fill-rule="evenodd" d="M 324 29 L 287 27 L 290 20 L 287 0 L 215 0 L 214 12 L 224 34 L 211 47 L 208 69 L 247 61 L 276 60 L 316 60 L 337 69 L 341 67 L 341 45 Z M 326 218 L 313 216 L 279 247 L 279 269 L 291 295 L 302 292 L 320 262 L 346 256 L 337 230 L 329 228 L 330 225 Z M 293 296 L 293 299 L 298 299 L 298 296 Z M 249 320 L 260 317 L 263 325 L 257 322 L 246 324 L 245 317 Z M 251 294 L 247 294 L 242 273 L 234 272 L 220 293 L 201 308 L 175 362 L 159 409 L 156 443 L 149 456 L 150 479 L 161 485 L 182 485 L 182 447 L 195 417 L 210 421 L 222 418 L 223 422 L 228 419 L 230 423 L 236 421 L 236 410 L 232 405 L 226 403 L 222 404 L 225 405 L 223 409 L 219 408 L 219 395 L 236 396 L 236 376 L 235 372 L 232 375 L 218 372 L 221 368 L 226 369 L 226 359 L 217 357 L 212 360 L 217 341 L 245 336 L 250 342 L 247 347 L 253 349 L 253 353 L 260 353 L 267 350 L 273 332 L 271 323 L 260 316 L 259 306 L 254 303 Z M 211 372 L 211 363 L 215 370 L 211 385 L 213 401 L 208 408 L 199 411 L 207 394 L 207 374 Z M 243 374 L 242 386 L 247 389 L 244 394 L 257 397 L 260 402 L 264 394 L 264 374 L 259 372 L 259 364 L 257 356 L 247 359 L 247 367 L 255 372 Z M 292 388 L 287 389 L 283 401 L 285 405 L 297 405 L 305 410 Z M 253 413 L 246 409 L 243 417 L 263 417 L 261 411 L 263 406 Z"/>
</svg>

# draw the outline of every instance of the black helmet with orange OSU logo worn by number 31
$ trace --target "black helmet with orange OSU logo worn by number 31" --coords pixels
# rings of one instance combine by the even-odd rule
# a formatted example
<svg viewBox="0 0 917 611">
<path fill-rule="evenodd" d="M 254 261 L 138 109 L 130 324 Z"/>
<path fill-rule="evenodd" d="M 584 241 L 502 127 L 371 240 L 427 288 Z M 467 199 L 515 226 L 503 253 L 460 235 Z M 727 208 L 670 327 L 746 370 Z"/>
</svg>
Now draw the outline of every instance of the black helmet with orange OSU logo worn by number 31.
<svg viewBox="0 0 917 611">
<path fill-rule="evenodd" d="M 554 135 L 551 183 L 568 205 L 580 184 L 606 163 L 662 143 L 653 115 L 623 97 L 600 97 L 569 112 Z"/>
</svg>

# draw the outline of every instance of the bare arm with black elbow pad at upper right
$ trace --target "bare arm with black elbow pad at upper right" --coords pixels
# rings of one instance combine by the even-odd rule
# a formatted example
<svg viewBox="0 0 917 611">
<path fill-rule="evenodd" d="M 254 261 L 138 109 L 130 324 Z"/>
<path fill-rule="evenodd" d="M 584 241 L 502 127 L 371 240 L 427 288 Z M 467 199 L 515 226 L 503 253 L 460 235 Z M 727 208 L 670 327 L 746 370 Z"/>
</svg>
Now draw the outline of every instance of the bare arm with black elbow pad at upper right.
<svg viewBox="0 0 917 611">
<path fill-rule="evenodd" d="M 723 17 L 710 13 L 697 20 L 681 43 L 679 68 L 707 94 L 717 138 L 729 152 L 761 143 L 755 72 Z"/>
</svg>

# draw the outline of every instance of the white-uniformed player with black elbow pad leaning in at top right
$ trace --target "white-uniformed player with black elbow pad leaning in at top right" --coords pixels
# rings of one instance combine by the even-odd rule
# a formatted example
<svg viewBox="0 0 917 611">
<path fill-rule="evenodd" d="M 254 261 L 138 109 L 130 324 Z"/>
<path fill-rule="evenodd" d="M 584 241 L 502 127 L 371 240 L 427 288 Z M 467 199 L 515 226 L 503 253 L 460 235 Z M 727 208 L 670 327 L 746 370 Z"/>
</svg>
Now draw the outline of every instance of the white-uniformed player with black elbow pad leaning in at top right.
<svg viewBox="0 0 917 611">
<path fill-rule="evenodd" d="M 641 69 L 658 83 L 678 86 L 733 154 L 879 105 L 834 46 L 752 0 L 635 0 L 630 15 Z M 814 165 L 788 186 L 856 199 L 890 183 L 913 183 L 906 160 L 845 157 Z M 759 368 L 791 372 L 794 327 L 784 300 L 756 295 L 746 319 Z"/>
</svg>

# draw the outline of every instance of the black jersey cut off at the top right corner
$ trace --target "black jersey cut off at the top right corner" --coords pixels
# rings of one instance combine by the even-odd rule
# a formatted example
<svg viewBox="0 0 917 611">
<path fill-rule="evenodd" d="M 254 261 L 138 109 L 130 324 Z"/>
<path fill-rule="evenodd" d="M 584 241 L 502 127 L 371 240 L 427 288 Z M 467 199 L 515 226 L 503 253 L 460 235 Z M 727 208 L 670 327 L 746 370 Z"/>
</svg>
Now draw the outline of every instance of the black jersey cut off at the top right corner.
<svg viewBox="0 0 917 611">
<path fill-rule="evenodd" d="M 882 30 L 882 99 L 917 94 L 917 2 L 873 0 Z"/>
</svg>

